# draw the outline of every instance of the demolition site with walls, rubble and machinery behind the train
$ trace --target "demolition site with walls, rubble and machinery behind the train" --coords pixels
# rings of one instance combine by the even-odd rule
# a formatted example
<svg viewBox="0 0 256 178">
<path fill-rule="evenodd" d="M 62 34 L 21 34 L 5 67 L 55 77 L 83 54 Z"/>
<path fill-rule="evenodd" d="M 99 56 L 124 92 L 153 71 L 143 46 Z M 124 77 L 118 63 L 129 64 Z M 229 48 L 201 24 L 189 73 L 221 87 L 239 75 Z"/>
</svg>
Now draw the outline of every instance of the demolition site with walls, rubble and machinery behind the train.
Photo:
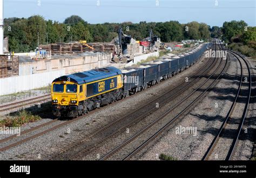
<svg viewBox="0 0 256 178">
<path fill-rule="evenodd" d="M 145 41 L 136 41 L 119 29 L 118 37 L 108 43 L 80 40 L 39 44 L 35 52 L 30 53 L 7 51 L 8 39 L 2 40 L 1 45 L 5 51 L 0 56 L 0 95 L 8 95 L 49 86 L 62 75 L 106 66 L 122 68 L 159 56 L 160 39 L 153 37 L 151 31 Z"/>
</svg>

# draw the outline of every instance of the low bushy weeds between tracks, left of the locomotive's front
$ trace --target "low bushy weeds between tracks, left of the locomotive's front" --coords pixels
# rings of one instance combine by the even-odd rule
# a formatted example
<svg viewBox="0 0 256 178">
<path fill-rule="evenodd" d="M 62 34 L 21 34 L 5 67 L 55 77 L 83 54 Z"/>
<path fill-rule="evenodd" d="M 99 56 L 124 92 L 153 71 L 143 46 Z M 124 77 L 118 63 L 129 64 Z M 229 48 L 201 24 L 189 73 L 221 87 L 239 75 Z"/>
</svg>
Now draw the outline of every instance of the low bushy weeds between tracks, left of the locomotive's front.
<svg viewBox="0 0 256 178">
<path fill-rule="evenodd" d="M 20 127 L 26 123 L 36 122 L 37 120 L 41 120 L 42 118 L 39 116 L 34 116 L 31 112 L 22 110 L 17 113 L 16 116 L 6 117 L 0 120 L 0 127 Z"/>
</svg>

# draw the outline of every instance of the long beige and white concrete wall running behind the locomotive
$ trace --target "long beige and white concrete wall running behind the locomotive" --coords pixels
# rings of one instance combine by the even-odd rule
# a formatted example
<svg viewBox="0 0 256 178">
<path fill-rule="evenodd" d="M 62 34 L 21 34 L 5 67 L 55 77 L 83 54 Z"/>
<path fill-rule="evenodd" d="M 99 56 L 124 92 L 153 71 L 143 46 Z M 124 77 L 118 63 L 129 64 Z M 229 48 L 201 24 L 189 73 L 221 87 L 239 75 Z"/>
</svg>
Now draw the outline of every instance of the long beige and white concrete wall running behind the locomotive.
<svg viewBox="0 0 256 178">
<path fill-rule="evenodd" d="M 0 79 L 0 95 L 46 87 L 62 75 L 83 72 L 109 64 L 111 54 L 95 54 L 19 63 L 19 76 Z"/>
</svg>

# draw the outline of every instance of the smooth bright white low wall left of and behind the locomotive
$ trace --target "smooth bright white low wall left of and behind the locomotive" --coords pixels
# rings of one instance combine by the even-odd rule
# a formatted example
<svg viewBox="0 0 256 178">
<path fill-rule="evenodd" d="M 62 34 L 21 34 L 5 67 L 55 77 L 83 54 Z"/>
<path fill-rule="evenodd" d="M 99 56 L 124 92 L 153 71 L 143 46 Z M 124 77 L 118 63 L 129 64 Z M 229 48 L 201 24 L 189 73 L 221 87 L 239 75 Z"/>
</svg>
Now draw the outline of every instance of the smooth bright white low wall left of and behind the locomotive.
<svg viewBox="0 0 256 178">
<path fill-rule="evenodd" d="M 0 95 L 46 87 L 62 75 L 65 75 L 65 70 L 3 78 L 0 79 Z"/>
</svg>

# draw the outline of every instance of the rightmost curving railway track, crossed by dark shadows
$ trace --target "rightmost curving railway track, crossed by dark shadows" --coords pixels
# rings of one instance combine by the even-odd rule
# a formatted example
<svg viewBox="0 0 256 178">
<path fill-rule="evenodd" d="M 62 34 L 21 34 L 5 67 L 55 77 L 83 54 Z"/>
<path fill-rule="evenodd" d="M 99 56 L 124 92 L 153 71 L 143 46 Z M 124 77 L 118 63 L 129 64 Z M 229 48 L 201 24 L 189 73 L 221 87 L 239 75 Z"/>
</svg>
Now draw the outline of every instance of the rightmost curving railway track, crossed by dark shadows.
<svg viewBox="0 0 256 178">
<path fill-rule="evenodd" d="M 203 160 L 232 160 L 250 104 L 252 87 L 250 66 L 240 54 L 230 50 L 227 51 L 240 63 L 240 84 L 225 121 L 221 125 L 212 144 L 207 149 Z M 245 81 L 245 77 L 247 81 Z"/>
</svg>

